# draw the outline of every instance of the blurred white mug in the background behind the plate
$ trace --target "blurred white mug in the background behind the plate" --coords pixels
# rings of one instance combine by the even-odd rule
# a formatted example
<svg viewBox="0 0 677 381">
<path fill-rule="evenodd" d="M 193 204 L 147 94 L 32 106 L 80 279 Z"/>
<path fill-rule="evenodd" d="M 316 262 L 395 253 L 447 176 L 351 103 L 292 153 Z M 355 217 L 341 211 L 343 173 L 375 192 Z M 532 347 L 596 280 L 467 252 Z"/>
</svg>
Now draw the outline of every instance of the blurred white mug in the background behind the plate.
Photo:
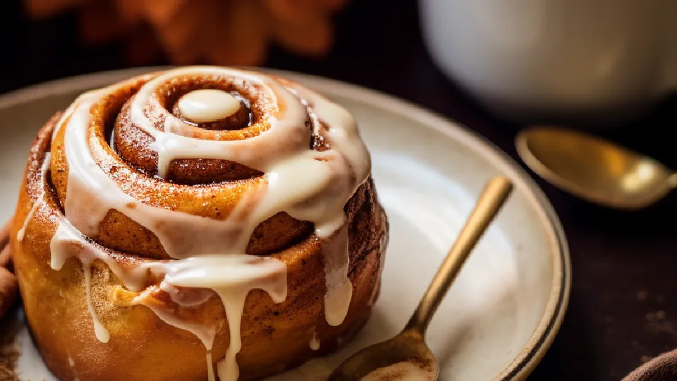
<svg viewBox="0 0 677 381">
<path fill-rule="evenodd" d="M 433 61 L 508 119 L 617 121 L 677 88 L 677 0 L 420 0 Z"/>
</svg>

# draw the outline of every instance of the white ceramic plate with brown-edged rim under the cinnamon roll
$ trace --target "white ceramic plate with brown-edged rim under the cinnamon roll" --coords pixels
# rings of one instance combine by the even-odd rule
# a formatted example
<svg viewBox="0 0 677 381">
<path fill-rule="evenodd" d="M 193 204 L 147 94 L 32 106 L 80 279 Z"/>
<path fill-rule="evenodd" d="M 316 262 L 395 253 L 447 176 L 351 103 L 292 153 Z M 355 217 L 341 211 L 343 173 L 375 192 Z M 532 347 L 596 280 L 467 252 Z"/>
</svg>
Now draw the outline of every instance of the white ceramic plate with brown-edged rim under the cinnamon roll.
<svg viewBox="0 0 677 381">
<path fill-rule="evenodd" d="M 11 216 L 37 129 L 80 92 L 145 69 L 67 78 L 0 97 L 0 218 Z M 323 380 L 363 346 L 396 334 L 461 229 L 484 183 L 506 174 L 516 190 L 470 256 L 432 320 L 427 339 L 441 380 L 521 380 L 561 324 L 571 282 L 563 231 L 541 191 L 507 155 L 425 109 L 334 80 L 281 73 L 343 104 L 372 152 L 391 221 L 382 295 L 350 346 L 275 380 Z M 24 327 L 23 380 L 54 380 Z"/>
</svg>

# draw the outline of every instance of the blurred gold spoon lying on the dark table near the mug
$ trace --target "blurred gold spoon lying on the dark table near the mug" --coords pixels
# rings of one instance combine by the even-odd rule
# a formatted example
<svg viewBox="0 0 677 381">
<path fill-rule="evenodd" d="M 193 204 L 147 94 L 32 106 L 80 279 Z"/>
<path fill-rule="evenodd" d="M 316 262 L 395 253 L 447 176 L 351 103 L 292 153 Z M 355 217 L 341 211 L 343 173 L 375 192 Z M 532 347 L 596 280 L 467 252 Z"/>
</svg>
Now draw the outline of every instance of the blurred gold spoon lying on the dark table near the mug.
<svg viewBox="0 0 677 381">
<path fill-rule="evenodd" d="M 543 179 L 609 207 L 640 209 L 677 186 L 677 174 L 651 157 L 585 133 L 536 126 L 518 133 L 515 143 Z"/>
</svg>

